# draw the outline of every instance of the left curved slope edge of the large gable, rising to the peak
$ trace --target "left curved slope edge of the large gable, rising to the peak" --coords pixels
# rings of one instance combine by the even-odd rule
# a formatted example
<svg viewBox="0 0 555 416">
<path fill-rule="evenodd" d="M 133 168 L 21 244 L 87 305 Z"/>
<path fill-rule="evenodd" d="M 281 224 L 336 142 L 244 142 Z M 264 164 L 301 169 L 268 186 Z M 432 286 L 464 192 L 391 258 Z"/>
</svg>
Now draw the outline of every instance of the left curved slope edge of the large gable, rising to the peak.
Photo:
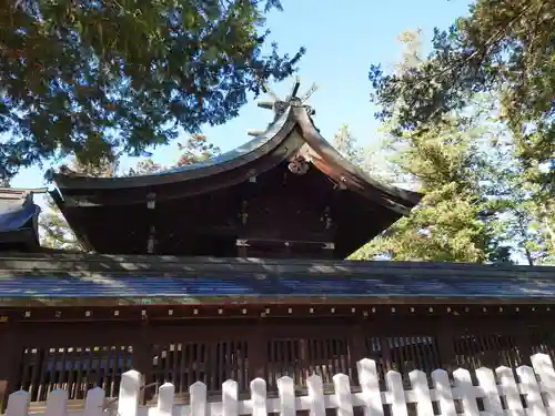
<svg viewBox="0 0 555 416">
<path fill-rule="evenodd" d="M 196 180 L 236 169 L 271 152 L 287 138 L 287 133 L 293 130 L 294 125 L 293 112 L 289 108 L 262 134 L 234 150 L 200 163 L 138 176 L 92 177 L 57 173 L 54 182 L 60 190 L 117 190 Z"/>
</svg>

